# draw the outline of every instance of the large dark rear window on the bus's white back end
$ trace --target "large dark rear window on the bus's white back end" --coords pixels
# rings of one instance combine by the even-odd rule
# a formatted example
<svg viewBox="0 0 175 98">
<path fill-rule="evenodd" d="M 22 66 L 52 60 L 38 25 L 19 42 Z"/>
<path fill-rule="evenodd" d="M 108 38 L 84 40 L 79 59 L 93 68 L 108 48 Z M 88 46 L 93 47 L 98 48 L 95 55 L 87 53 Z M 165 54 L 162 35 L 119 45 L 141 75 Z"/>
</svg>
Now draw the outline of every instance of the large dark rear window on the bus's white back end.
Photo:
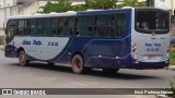
<svg viewBox="0 0 175 98">
<path fill-rule="evenodd" d="M 165 34 L 170 30 L 170 13 L 160 10 L 136 10 L 135 29 L 144 34 Z"/>
</svg>

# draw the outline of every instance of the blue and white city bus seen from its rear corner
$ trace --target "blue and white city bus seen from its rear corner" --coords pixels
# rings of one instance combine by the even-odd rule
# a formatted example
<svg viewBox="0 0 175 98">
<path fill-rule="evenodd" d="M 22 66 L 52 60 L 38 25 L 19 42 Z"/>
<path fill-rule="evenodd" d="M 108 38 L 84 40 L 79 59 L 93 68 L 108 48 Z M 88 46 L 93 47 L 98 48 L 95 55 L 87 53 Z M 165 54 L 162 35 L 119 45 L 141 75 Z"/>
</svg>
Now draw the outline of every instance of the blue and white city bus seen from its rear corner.
<svg viewBox="0 0 175 98">
<path fill-rule="evenodd" d="M 5 28 L 8 58 L 91 69 L 163 69 L 170 60 L 168 11 L 131 8 L 11 16 Z"/>
</svg>

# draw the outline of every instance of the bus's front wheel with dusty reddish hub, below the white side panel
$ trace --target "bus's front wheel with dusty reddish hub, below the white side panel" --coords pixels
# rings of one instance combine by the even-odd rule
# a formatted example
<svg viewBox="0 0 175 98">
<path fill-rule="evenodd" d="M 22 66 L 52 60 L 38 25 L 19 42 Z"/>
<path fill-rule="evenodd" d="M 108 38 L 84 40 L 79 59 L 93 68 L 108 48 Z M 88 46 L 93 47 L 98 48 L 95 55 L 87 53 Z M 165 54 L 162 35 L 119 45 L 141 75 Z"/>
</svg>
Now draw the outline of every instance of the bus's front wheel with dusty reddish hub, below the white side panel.
<svg viewBox="0 0 175 98">
<path fill-rule="evenodd" d="M 25 66 L 28 64 L 28 60 L 26 60 L 26 53 L 24 50 L 20 51 L 19 53 L 19 62 L 20 62 L 20 65 L 22 66 Z"/>
</svg>

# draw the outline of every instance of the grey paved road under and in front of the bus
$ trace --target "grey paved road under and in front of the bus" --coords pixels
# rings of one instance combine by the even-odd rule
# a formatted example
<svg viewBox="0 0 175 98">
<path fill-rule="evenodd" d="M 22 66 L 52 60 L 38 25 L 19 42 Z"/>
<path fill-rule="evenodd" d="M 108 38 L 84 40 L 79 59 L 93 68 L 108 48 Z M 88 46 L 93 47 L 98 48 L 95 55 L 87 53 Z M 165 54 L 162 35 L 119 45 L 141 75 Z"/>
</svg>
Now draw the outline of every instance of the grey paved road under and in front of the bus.
<svg viewBox="0 0 175 98">
<path fill-rule="evenodd" d="M 175 71 L 171 70 L 120 70 L 110 75 L 103 74 L 101 70 L 93 70 L 86 74 L 73 74 L 70 68 L 49 66 L 46 63 L 33 62 L 28 66 L 20 66 L 18 59 L 4 58 L 3 52 L 0 51 L 0 88 L 165 88 L 170 87 L 170 79 L 174 75 Z M 128 98 L 128 96 L 129 98 L 154 98 L 152 95 L 59 97 Z"/>
</svg>

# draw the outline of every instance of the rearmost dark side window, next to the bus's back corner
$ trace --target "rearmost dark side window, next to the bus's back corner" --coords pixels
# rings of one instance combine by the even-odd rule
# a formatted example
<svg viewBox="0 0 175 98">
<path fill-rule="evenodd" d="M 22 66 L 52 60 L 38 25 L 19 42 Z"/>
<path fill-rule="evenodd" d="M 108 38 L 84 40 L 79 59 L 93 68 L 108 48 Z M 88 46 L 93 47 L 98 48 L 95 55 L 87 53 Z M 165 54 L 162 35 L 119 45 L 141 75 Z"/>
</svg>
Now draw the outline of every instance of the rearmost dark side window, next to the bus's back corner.
<svg viewBox="0 0 175 98">
<path fill-rule="evenodd" d="M 122 37 L 126 29 L 127 16 L 124 13 L 116 15 L 116 32 L 115 37 Z"/>
</svg>

